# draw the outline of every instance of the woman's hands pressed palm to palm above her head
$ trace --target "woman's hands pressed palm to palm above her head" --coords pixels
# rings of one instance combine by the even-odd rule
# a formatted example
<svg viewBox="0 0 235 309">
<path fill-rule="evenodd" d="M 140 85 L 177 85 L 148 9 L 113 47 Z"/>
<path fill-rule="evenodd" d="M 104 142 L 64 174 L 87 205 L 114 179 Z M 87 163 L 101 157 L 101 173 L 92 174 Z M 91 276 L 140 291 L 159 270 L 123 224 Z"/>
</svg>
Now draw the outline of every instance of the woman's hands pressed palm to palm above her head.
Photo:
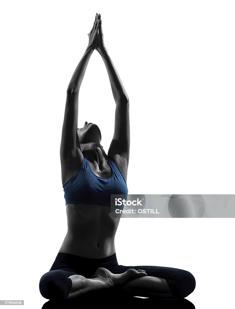
<svg viewBox="0 0 235 309">
<path fill-rule="evenodd" d="M 89 36 L 88 46 L 91 46 L 93 49 L 96 49 L 99 53 L 105 49 L 103 30 L 102 30 L 102 20 L 100 20 L 101 15 L 95 15 L 95 20 L 93 27 L 87 35 Z"/>
</svg>

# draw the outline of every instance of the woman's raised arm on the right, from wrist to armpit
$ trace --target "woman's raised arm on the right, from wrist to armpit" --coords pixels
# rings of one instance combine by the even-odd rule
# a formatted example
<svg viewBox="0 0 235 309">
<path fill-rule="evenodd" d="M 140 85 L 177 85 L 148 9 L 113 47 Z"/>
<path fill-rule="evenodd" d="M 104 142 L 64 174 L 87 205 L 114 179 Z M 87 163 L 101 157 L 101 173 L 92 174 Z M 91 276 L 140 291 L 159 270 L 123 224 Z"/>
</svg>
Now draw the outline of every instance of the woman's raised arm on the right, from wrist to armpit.
<svg viewBox="0 0 235 309">
<path fill-rule="evenodd" d="M 107 49 L 99 53 L 105 63 L 116 103 L 114 135 L 108 156 L 114 159 L 126 180 L 130 153 L 129 98 Z"/>
</svg>

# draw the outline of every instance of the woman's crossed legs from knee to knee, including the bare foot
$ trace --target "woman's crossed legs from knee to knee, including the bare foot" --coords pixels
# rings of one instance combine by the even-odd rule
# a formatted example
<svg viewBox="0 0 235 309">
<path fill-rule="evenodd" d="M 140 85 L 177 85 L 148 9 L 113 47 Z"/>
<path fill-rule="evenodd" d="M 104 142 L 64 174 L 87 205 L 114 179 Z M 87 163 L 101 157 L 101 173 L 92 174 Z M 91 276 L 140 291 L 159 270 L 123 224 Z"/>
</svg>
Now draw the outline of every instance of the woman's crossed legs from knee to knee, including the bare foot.
<svg viewBox="0 0 235 309">
<path fill-rule="evenodd" d="M 40 292 L 47 299 L 69 299 L 95 292 L 118 297 L 123 294 L 181 299 L 195 289 L 195 278 L 183 269 L 148 265 L 115 265 L 107 268 L 100 267 L 87 277 L 63 269 L 49 271 L 40 279 Z M 103 274 L 99 273 L 100 269 L 104 271 Z"/>
</svg>

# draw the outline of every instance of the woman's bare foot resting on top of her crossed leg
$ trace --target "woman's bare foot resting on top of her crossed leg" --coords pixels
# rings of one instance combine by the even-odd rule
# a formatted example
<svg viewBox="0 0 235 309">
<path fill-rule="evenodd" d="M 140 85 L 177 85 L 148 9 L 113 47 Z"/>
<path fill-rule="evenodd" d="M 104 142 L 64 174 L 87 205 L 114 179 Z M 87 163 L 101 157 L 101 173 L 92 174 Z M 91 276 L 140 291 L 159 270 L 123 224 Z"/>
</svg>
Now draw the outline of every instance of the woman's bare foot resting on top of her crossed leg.
<svg viewBox="0 0 235 309">
<path fill-rule="evenodd" d="M 115 284 L 122 284 L 129 279 L 143 276 L 147 276 L 147 273 L 143 269 L 136 270 L 130 268 L 124 273 L 114 274 L 106 268 L 99 267 L 91 278 L 97 279 L 104 287 L 111 287 Z"/>
</svg>

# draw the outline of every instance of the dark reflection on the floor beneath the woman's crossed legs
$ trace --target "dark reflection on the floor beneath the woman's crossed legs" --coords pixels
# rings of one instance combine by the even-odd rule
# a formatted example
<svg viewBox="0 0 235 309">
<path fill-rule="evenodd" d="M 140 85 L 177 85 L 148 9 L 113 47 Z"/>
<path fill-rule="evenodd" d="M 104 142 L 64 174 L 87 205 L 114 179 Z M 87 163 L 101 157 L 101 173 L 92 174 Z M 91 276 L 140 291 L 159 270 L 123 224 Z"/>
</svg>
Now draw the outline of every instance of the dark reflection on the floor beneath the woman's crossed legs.
<svg viewBox="0 0 235 309">
<path fill-rule="evenodd" d="M 81 309 L 81 306 L 98 306 L 102 309 L 123 309 L 128 305 L 139 305 L 146 308 L 156 309 L 195 309 L 193 303 L 186 298 L 177 300 L 158 300 L 153 298 L 139 298 L 139 297 L 77 297 L 61 301 L 49 300 L 44 303 L 42 309 Z M 154 306 L 154 307 L 153 307 Z M 95 307 L 94 307 L 95 308 Z"/>
</svg>

